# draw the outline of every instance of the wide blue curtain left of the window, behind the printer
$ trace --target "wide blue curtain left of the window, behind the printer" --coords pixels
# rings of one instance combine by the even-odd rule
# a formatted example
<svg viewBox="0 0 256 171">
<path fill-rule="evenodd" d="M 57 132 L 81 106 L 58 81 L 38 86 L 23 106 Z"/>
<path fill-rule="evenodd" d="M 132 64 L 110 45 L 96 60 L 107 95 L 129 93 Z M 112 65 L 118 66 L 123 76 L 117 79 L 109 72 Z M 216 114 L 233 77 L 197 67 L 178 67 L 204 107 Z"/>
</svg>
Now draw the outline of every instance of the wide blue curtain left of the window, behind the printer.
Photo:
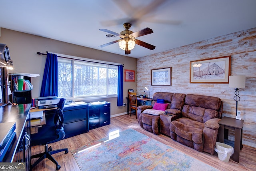
<svg viewBox="0 0 256 171">
<path fill-rule="evenodd" d="M 58 58 L 55 54 L 47 53 L 44 67 L 44 77 L 40 97 L 58 97 Z"/>
</svg>

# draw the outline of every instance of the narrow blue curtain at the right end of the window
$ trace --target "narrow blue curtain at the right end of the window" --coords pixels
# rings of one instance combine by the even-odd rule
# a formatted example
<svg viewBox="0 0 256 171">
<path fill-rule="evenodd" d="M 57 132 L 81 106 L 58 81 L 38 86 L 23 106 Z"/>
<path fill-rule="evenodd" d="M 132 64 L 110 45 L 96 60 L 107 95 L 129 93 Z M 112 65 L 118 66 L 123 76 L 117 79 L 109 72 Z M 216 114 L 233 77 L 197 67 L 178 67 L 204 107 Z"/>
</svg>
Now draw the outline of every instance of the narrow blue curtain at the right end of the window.
<svg viewBox="0 0 256 171">
<path fill-rule="evenodd" d="M 122 106 L 124 104 L 124 72 L 123 66 L 118 66 L 118 85 L 117 85 L 117 106 Z"/>
</svg>

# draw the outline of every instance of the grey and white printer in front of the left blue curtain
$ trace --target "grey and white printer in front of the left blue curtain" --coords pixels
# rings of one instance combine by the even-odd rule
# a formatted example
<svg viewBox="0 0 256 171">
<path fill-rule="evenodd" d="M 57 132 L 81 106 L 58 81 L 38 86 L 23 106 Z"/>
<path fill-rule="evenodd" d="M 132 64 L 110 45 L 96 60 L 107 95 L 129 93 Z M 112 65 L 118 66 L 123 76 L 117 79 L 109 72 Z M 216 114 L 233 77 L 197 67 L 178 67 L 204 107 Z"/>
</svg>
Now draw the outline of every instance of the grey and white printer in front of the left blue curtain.
<svg viewBox="0 0 256 171">
<path fill-rule="evenodd" d="M 59 101 L 57 96 L 38 97 L 38 109 L 57 107 Z"/>
</svg>

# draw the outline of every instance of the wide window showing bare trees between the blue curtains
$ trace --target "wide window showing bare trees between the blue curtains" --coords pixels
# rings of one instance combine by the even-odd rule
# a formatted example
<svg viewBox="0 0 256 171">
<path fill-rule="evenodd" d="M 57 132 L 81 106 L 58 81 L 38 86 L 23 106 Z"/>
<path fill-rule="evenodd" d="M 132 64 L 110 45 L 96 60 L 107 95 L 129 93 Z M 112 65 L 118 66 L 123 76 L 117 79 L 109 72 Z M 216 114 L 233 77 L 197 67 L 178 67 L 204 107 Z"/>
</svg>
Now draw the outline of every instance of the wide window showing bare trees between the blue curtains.
<svg viewBox="0 0 256 171">
<path fill-rule="evenodd" d="M 59 97 L 113 96 L 117 84 L 117 66 L 58 58 Z"/>
</svg>

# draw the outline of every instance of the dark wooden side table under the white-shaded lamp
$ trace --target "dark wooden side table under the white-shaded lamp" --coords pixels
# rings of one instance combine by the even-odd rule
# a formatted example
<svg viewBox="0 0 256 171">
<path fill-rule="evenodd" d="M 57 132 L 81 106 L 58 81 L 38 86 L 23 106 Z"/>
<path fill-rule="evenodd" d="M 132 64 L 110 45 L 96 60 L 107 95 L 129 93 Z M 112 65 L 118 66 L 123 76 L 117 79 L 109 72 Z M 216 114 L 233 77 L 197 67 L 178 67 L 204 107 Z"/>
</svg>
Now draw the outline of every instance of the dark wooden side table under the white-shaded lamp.
<svg viewBox="0 0 256 171">
<path fill-rule="evenodd" d="M 243 124 L 244 120 L 237 120 L 231 117 L 223 117 L 220 121 L 219 128 L 219 142 L 224 142 L 224 136 L 228 137 L 228 131 L 225 129 L 230 129 L 235 131 L 235 141 L 234 141 L 234 155 L 233 160 L 239 163 L 239 153 L 242 150 L 242 135 L 243 135 Z M 225 135 L 226 134 L 226 135 Z"/>
</svg>

